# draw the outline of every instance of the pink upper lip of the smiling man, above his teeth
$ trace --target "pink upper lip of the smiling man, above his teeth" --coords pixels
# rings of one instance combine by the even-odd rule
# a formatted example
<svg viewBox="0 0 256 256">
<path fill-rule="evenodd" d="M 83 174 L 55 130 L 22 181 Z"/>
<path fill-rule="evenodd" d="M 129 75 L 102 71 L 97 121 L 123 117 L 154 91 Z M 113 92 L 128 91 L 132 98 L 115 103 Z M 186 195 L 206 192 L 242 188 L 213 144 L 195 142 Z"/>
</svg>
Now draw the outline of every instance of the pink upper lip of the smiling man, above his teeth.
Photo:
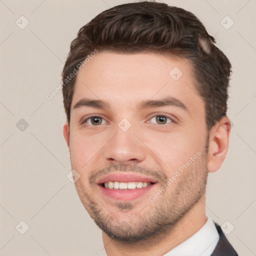
<svg viewBox="0 0 256 256">
<path fill-rule="evenodd" d="M 101 183 L 109 182 L 109 181 L 119 181 L 119 182 L 142 181 L 142 182 L 152 182 L 152 183 L 157 182 L 155 179 L 145 176 L 145 175 L 134 174 L 134 173 L 115 172 L 115 173 L 109 173 L 109 174 L 99 177 L 96 180 L 96 183 L 101 184 Z"/>
</svg>

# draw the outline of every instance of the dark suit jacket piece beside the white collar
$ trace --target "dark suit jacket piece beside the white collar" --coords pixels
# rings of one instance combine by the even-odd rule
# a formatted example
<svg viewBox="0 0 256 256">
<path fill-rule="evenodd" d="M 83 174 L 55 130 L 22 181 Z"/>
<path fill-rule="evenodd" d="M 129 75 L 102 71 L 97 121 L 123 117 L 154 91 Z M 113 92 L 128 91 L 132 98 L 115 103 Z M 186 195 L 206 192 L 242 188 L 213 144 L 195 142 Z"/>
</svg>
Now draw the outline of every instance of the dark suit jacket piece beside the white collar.
<svg viewBox="0 0 256 256">
<path fill-rule="evenodd" d="M 221 227 L 215 222 L 214 224 L 219 234 L 219 240 L 210 256 L 238 256 L 232 245 L 226 239 Z"/>
</svg>

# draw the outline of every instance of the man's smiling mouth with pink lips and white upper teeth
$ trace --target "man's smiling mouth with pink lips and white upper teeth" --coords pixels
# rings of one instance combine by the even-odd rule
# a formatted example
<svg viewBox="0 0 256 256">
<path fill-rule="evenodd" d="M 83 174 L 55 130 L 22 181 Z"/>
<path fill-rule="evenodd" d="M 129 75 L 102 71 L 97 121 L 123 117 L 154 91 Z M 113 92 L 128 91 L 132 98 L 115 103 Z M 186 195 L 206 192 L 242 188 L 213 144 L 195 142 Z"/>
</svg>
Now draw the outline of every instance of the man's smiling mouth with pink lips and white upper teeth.
<svg viewBox="0 0 256 256">
<path fill-rule="evenodd" d="M 115 200 L 144 198 L 155 186 L 156 180 L 132 173 L 110 173 L 97 181 L 102 197 Z M 151 194 L 148 194 L 148 197 Z"/>
</svg>

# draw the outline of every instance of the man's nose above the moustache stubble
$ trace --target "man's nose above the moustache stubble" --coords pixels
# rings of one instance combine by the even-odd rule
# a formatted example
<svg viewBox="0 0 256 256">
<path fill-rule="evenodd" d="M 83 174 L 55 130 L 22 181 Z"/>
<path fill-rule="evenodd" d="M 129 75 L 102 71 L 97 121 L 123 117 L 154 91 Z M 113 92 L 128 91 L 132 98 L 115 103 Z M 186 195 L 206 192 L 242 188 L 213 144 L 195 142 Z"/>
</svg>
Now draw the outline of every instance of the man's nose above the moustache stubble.
<svg viewBox="0 0 256 256">
<path fill-rule="evenodd" d="M 141 139 L 142 140 L 142 139 Z M 132 129 L 122 131 L 116 128 L 115 135 L 104 147 L 104 158 L 111 164 L 135 164 L 145 159 L 146 149 Z"/>
</svg>

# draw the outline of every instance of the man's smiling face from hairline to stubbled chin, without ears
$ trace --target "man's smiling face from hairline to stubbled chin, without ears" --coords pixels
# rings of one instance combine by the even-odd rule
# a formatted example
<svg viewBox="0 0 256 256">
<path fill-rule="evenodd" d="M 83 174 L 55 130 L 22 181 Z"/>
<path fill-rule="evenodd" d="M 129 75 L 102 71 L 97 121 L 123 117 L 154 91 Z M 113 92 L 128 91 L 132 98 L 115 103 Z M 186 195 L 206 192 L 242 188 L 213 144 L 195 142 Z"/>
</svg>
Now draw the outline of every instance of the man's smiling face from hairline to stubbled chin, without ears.
<svg viewBox="0 0 256 256">
<path fill-rule="evenodd" d="M 202 196 L 207 177 L 204 103 L 190 63 L 105 51 L 76 78 L 69 151 L 82 204 L 114 239 L 165 232 Z"/>
</svg>

